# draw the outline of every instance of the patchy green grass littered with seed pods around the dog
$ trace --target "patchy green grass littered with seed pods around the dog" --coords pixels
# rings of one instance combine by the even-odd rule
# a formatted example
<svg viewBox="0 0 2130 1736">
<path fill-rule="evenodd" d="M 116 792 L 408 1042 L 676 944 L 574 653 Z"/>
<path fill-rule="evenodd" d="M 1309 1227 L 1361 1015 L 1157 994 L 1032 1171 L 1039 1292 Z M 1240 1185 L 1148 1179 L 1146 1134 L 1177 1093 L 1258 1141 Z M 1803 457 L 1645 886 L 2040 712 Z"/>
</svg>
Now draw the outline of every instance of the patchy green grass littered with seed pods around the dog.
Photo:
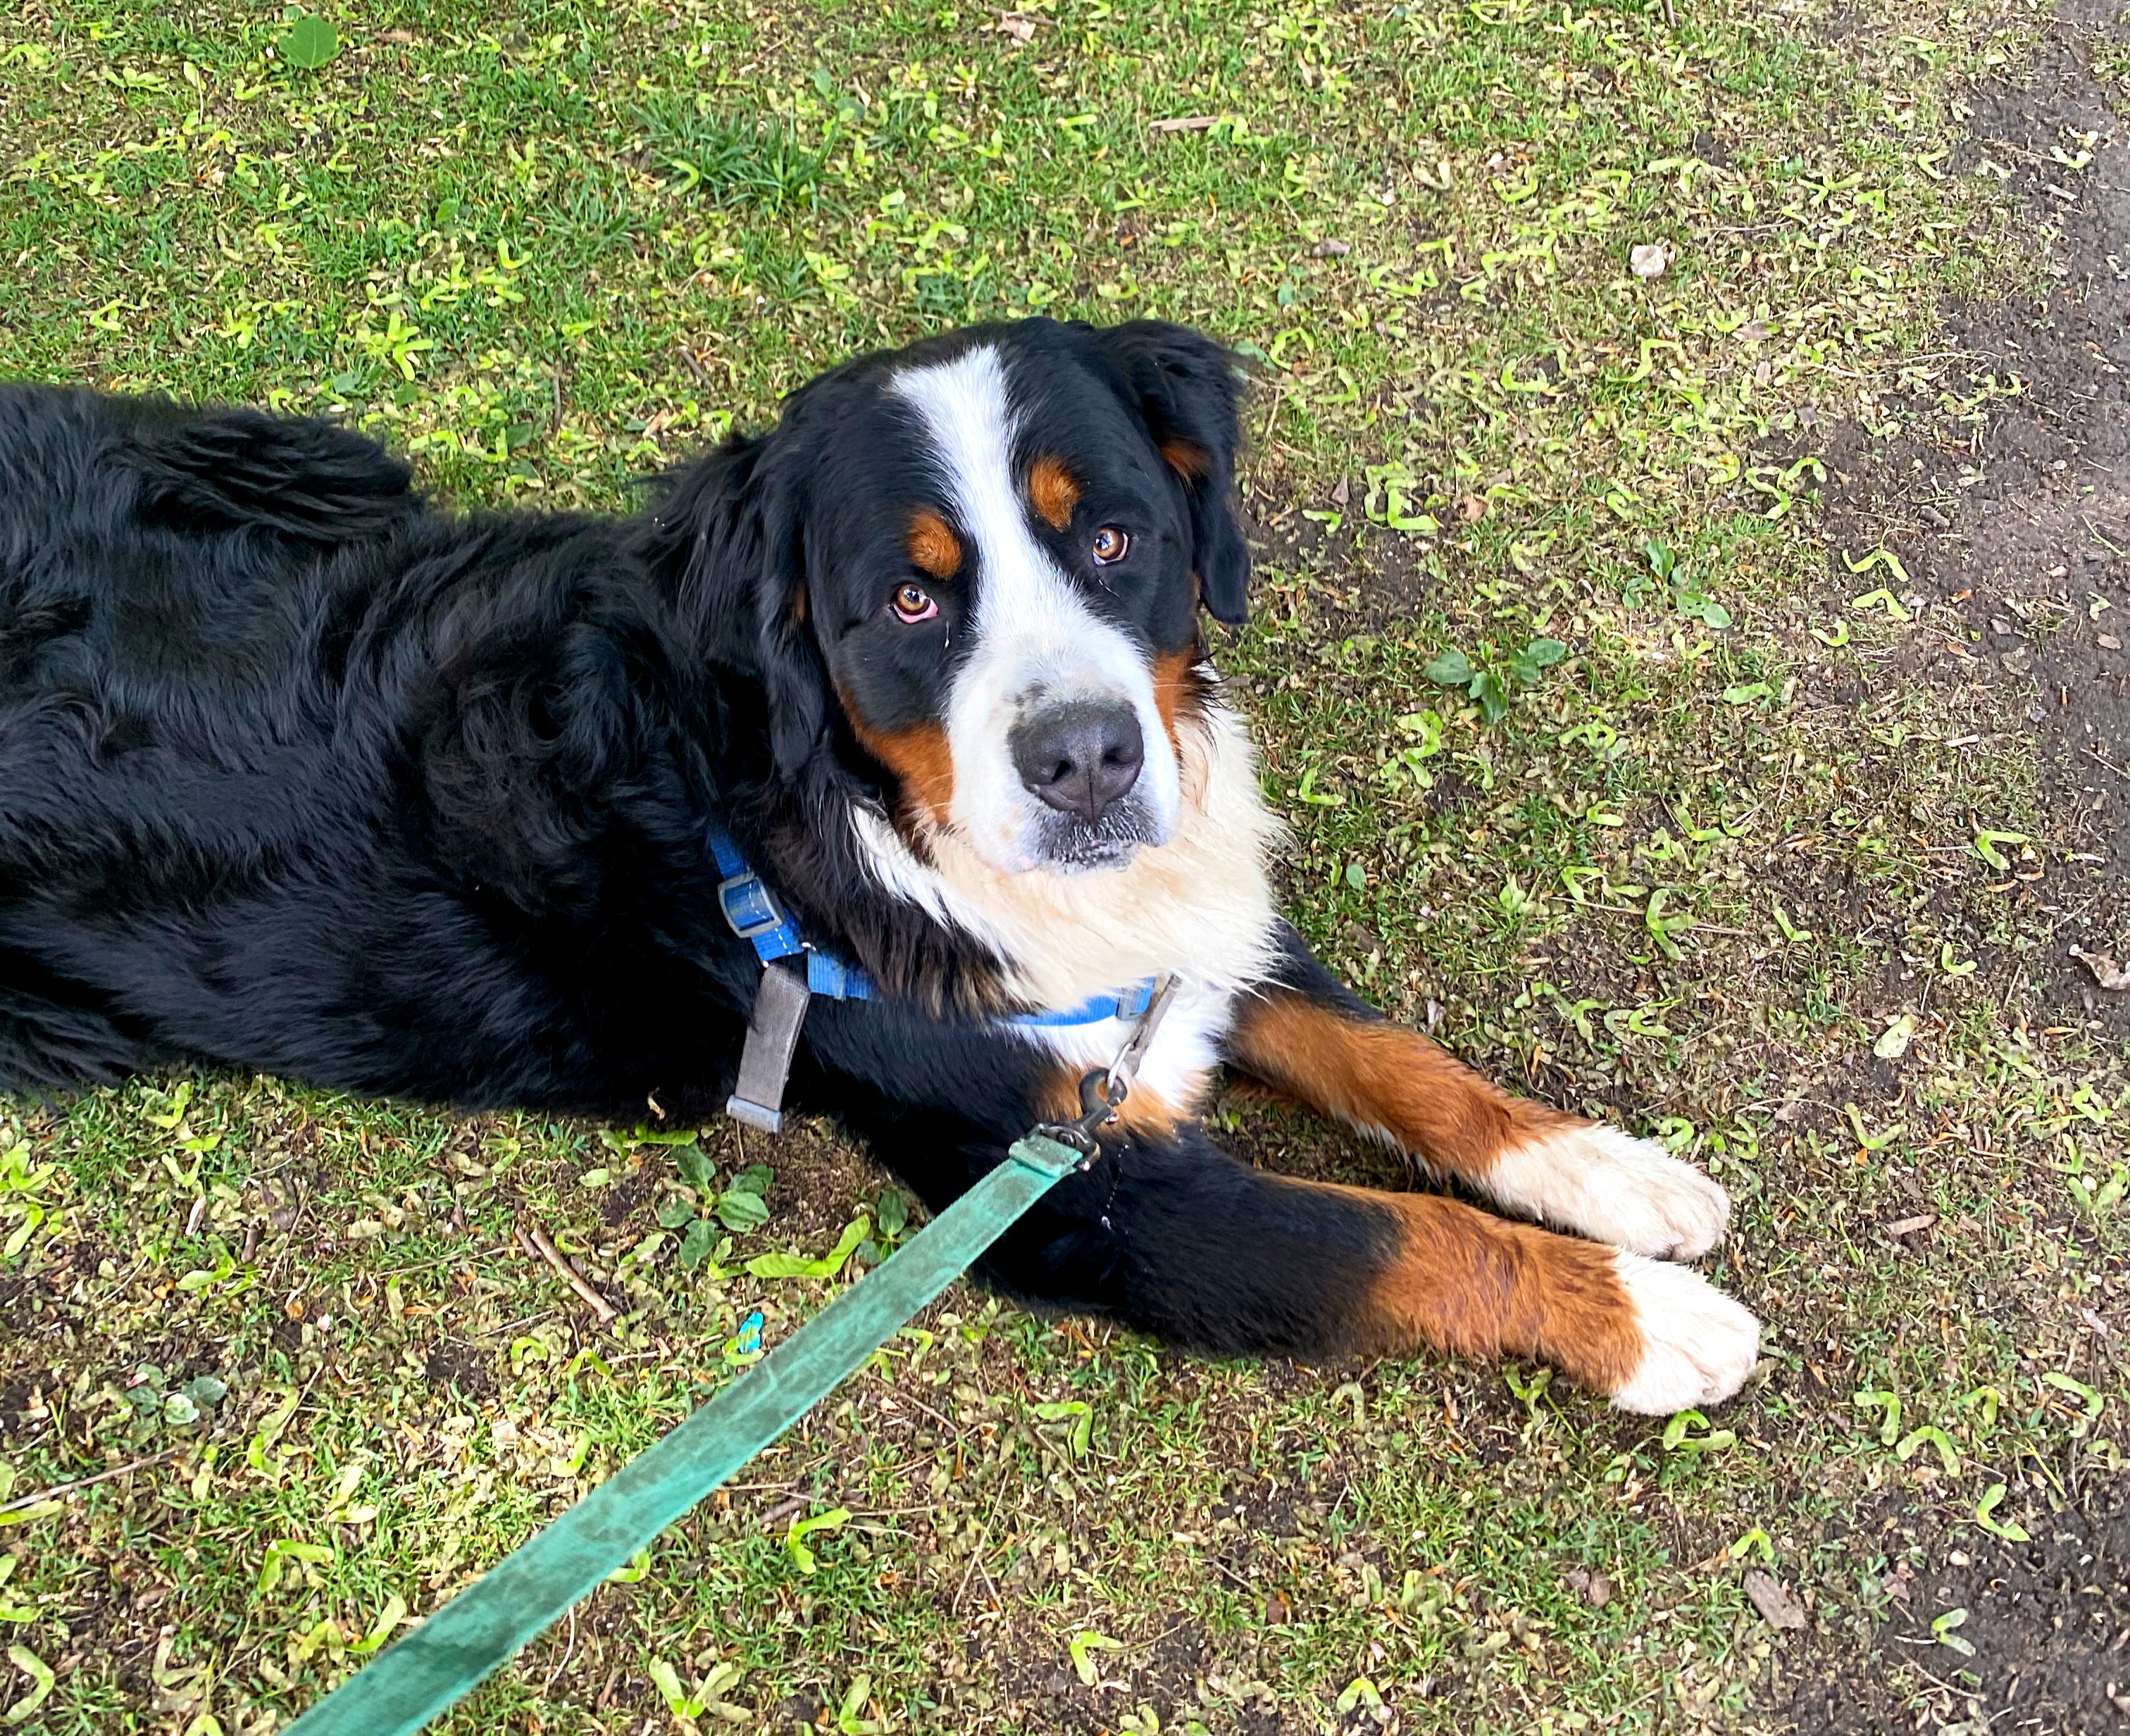
<svg viewBox="0 0 2130 1736">
<path fill-rule="evenodd" d="M 1840 1655 L 1891 1566 L 1985 1542 L 1985 1489 L 2038 1532 L 2119 1468 L 2079 1310 L 2124 1295 L 2130 1057 L 2030 986 L 2064 816 L 2028 701 L 1932 667 L 1957 609 L 1819 509 L 1828 430 L 1964 447 L 2017 390 L 1936 320 L 2041 268 L 1955 151 L 2034 15 L 1670 11 L 1061 0 L 1022 43 L 899 0 L 430 0 L 339 15 L 320 70 L 258 9 L 0 19 L 0 373 L 345 417 L 460 503 L 624 507 L 965 320 L 1242 345 L 1263 556 L 1220 658 L 1287 907 L 1740 1203 L 1717 1270 L 1768 1376 L 1670 1446 L 1534 1370 L 1208 1365 L 958 1291 L 449 1730 L 669 1727 L 660 1666 L 743 1708 L 703 1730 L 1751 1727 L 1798 1642 L 1740 1559 Z M 149 1461 L 0 1510 L 0 1621 L 60 1676 L 17 1727 L 285 1721 L 726 1378 L 752 1308 L 818 1308 L 746 1259 L 824 1250 L 880 1178 L 818 1131 L 701 1150 L 692 1186 L 624 1129 L 243 1078 L 0 1106 L 0 1502 Z M 684 1265 L 763 1161 L 769 1221 Z M 837 1506 L 801 1572 L 790 1521 Z M 1082 1634 L 1118 1642 L 1093 1687 Z"/>
</svg>

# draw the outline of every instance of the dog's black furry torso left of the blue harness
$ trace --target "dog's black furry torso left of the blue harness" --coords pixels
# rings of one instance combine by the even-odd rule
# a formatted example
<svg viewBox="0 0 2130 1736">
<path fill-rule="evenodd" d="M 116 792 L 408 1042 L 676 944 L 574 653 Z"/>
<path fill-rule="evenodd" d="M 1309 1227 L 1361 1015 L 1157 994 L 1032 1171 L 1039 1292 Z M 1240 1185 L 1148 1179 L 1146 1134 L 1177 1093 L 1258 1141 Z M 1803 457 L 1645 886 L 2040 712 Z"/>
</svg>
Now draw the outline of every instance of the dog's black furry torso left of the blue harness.
<svg viewBox="0 0 2130 1736">
<path fill-rule="evenodd" d="M 639 931 L 714 920 L 705 682 L 626 520 L 0 388 L 0 1091 L 207 1059 L 607 1101 L 581 1031 L 692 969 Z"/>
</svg>

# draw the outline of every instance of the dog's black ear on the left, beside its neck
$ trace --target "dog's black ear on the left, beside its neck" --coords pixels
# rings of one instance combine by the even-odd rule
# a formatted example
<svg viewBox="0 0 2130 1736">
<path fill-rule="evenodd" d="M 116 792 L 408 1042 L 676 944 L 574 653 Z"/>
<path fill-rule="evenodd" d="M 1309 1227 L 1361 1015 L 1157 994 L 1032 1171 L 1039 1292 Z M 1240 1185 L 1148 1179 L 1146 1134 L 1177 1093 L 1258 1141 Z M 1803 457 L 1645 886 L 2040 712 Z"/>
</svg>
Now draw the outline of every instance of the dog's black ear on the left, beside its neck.
<svg viewBox="0 0 2130 1736">
<path fill-rule="evenodd" d="M 771 756 L 786 777 L 829 733 L 829 675 L 807 622 L 809 481 L 784 430 L 726 441 L 673 477 L 645 550 L 677 569 L 703 652 L 760 679 Z"/>
</svg>

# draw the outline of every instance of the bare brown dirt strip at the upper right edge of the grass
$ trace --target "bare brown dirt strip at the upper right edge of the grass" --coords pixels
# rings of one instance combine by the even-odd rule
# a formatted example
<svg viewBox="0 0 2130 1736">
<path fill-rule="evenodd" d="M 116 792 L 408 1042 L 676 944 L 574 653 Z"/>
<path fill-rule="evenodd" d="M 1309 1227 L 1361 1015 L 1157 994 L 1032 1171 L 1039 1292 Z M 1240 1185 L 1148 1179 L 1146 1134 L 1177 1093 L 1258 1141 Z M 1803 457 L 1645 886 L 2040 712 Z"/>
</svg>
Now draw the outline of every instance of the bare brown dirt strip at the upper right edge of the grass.
<svg viewBox="0 0 2130 1736">
<path fill-rule="evenodd" d="M 1972 449 L 1874 456 L 1853 430 L 1828 449 L 1834 541 L 1877 526 L 1962 605 L 2000 703 L 2026 711 L 2075 856 L 2055 886 L 2051 986 L 2117 1029 L 2130 1001 L 2100 993 L 2070 948 L 2115 956 L 2130 941 L 2130 128 L 2092 70 L 2126 32 L 2117 0 L 2066 0 L 2030 83 L 1975 102 L 1970 149 L 2051 232 L 2053 283 L 2043 300 L 1951 309 L 1945 341 L 2017 375 L 2019 394 Z M 2092 162 L 2066 175 L 2079 151 Z"/>
</svg>

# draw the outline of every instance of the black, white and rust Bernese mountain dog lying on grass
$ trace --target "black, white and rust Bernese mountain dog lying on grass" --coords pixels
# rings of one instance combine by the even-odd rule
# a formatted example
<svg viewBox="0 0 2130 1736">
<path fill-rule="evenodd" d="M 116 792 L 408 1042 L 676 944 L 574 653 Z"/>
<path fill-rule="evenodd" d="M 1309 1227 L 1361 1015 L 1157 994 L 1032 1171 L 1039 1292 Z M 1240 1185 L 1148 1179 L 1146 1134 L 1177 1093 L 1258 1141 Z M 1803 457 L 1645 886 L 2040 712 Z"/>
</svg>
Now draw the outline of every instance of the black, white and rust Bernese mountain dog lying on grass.
<svg viewBox="0 0 2130 1736">
<path fill-rule="evenodd" d="M 1384 1020 L 1280 918 L 1199 620 L 1244 618 L 1240 392 L 1186 328 L 978 326 L 603 518 L 439 511 L 326 422 L 0 388 L 0 1088 L 200 1063 L 688 1116 L 805 967 L 863 988 L 816 980 L 792 1106 L 937 1210 L 1176 978 L 990 1284 L 1212 1353 L 1730 1397 L 1759 1327 L 1681 1263 L 1723 1189 Z M 1523 1221 L 1238 1163 L 1220 1067 Z"/>
</svg>

